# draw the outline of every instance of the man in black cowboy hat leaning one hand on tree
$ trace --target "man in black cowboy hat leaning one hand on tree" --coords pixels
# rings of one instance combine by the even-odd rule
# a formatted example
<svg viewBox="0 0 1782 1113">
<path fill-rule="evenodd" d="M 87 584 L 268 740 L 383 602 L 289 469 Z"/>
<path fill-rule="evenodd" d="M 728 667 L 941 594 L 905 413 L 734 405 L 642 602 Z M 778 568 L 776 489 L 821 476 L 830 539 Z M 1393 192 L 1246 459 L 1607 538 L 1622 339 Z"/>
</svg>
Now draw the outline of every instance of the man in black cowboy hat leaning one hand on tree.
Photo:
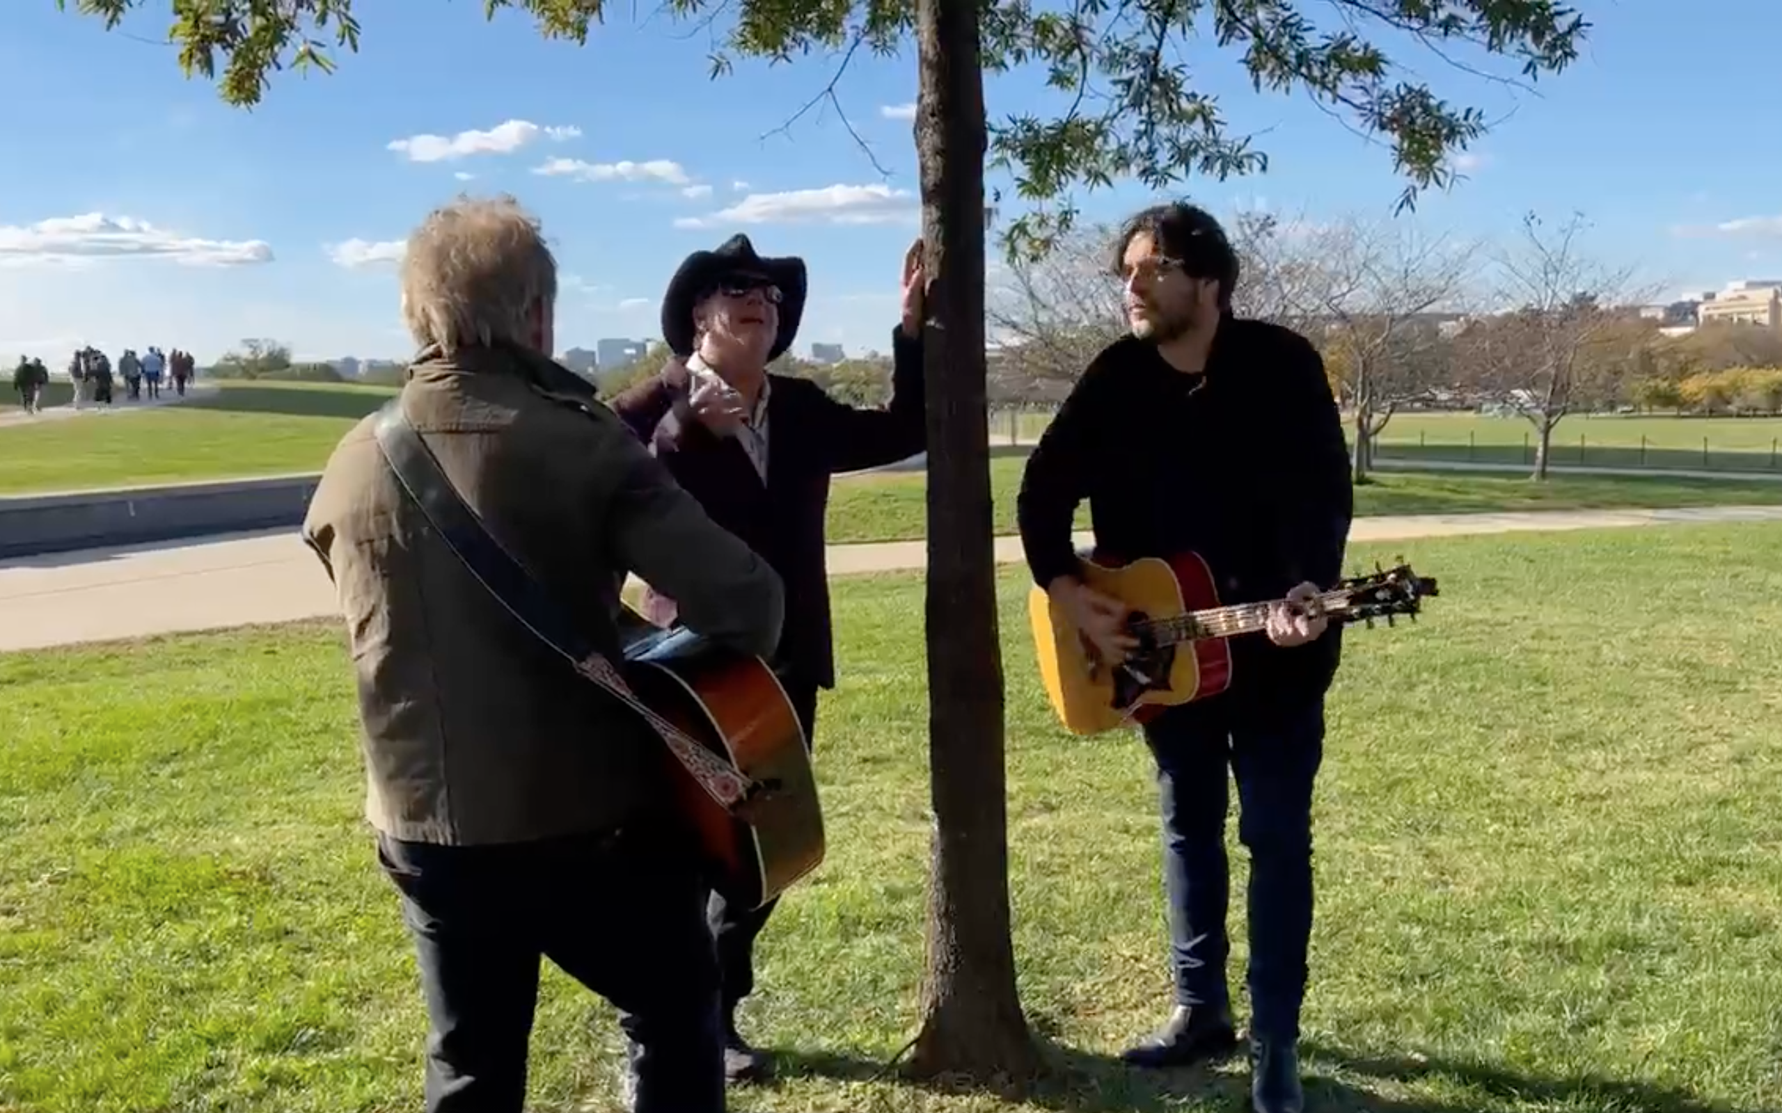
<svg viewBox="0 0 1782 1113">
<path fill-rule="evenodd" d="M 786 625 L 773 664 L 804 723 L 816 693 L 834 687 L 823 522 L 829 479 L 907 459 L 927 447 L 921 240 L 903 258 L 903 315 L 891 337 L 893 392 L 879 410 L 845 406 L 809 379 L 768 372 L 804 317 L 802 258 L 768 258 L 745 235 L 686 256 L 663 296 L 663 340 L 675 358 L 611 408 L 645 438 L 706 513 L 761 554 L 786 584 Z M 665 620 L 672 600 L 647 595 Z M 736 1031 L 736 1006 L 754 988 L 752 951 L 773 905 L 727 908 L 713 894 L 711 930 L 723 971 L 732 1081 L 759 1077 L 766 1058 Z"/>
</svg>

